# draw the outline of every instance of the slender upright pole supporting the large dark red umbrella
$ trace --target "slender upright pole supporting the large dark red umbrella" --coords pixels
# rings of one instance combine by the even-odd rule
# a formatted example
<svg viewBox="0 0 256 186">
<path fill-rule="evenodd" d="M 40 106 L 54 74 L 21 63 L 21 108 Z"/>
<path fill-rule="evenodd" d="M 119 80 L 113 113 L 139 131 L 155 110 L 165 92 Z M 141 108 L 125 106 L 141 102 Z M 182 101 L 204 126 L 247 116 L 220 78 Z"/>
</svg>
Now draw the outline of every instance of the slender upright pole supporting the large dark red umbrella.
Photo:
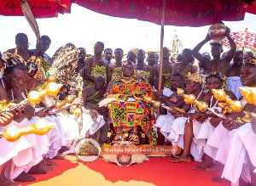
<svg viewBox="0 0 256 186">
<path fill-rule="evenodd" d="M 166 0 L 163 0 L 162 18 L 161 18 L 161 35 L 160 35 L 160 69 L 159 69 L 158 90 L 161 89 L 162 73 L 163 73 L 163 45 L 164 45 L 165 18 L 166 18 Z M 159 115 L 160 115 L 160 107 L 157 110 L 157 116 Z"/>
</svg>

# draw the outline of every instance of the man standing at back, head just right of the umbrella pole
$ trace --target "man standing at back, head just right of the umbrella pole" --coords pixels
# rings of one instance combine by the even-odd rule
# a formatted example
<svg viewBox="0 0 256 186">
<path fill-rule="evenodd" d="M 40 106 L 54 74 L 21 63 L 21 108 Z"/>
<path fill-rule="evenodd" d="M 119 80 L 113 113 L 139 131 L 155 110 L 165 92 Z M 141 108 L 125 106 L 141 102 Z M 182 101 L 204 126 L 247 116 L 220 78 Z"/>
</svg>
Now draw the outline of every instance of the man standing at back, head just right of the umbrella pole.
<svg viewBox="0 0 256 186">
<path fill-rule="evenodd" d="M 170 62 L 169 58 L 171 56 L 171 52 L 168 48 L 163 48 L 163 70 L 162 75 L 166 77 L 165 87 L 171 88 L 171 78 L 172 78 L 172 69 L 173 64 Z M 154 76 L 159 76 L 160 72 L 160 64 L 154 66 Z"/>
</svg>

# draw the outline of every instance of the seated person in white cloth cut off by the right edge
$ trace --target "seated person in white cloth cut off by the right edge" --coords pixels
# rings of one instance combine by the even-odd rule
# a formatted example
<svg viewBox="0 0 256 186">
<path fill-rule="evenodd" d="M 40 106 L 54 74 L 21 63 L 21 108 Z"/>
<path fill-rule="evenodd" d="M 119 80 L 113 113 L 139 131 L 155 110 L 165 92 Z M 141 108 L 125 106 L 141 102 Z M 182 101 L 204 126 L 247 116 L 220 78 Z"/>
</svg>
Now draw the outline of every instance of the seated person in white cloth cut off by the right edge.
<svg viewBox="0 0 256 186">
<path fill-rule="evenodd" d="M 256 87 L 256 60 L 249 60 L 241 70 L 242 86 Z M 244 111 L 255 112 L 255 105 L 242 101 L 244 105 L 241 112 L 233 113 L 220 122 L 218 127 L 208 139 L 205 152 L 208 166 L 212 166 L 212 159 L 224 165 L 222 178 L 230 180 L 232 185 L 239 183 L 256 184 L 255 178 L 255 121 L 248 119 Z M 243 121 L 244 120 L 244 121 Z M 243 122 L 242 122 L 243 121 Z M 223 181 L 212 178 L 212 181 Z"/>
</svg>

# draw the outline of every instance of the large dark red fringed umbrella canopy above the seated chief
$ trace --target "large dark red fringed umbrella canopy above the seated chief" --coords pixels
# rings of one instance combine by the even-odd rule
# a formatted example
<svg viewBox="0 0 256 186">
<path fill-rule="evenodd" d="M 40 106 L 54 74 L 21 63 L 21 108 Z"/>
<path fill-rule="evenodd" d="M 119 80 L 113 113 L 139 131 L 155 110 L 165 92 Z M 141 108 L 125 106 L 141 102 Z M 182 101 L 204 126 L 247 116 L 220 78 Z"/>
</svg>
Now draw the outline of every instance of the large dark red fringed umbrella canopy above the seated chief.
<svg viewBox="0 0 256 186">
<path fill-rule="evenodd" d="M 163 0 L 76 0 L 97 13 L 161 24 Z M 247 3 L 253 1 L 247 0 Z M 202 26 L 218 20 L 243 20 L 246 3 L 240 0 L 166 0 L 165 25 Z"/>
</svg>

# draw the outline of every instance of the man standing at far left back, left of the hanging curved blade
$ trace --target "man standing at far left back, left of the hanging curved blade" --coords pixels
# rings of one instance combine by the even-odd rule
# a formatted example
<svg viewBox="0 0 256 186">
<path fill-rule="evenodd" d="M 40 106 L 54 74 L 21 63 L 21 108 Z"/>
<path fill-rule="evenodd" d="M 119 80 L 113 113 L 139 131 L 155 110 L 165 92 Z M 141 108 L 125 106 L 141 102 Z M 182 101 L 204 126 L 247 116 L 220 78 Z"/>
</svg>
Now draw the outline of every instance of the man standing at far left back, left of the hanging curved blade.
<svg viewBox="0 0 256 186">
<path fill-rule="evenodd" d="M 28 38 L 26 34 L 18 33 L 15 37 L 15 44 L 16 44 L 16 48 L 9 49 L 6 52 L 10 54 L 16 53 L 20 55 L 24 61 L 27 61 L 28 54 L 26 50 L 28 48 L 29 43 L 28 43 Z"/>
</svg>

